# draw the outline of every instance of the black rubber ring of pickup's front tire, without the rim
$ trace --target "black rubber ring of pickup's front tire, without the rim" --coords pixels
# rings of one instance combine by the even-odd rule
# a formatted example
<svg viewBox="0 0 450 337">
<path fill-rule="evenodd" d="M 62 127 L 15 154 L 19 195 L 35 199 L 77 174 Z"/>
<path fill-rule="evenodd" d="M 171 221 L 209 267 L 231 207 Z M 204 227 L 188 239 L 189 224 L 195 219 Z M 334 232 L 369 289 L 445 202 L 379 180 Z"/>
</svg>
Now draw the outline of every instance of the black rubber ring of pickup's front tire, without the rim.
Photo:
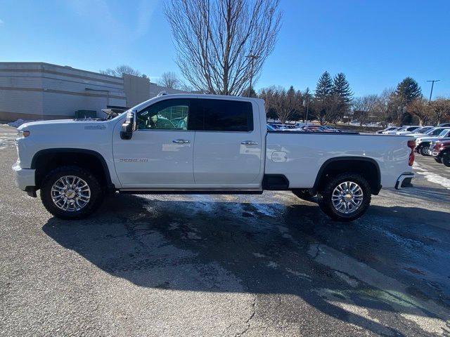
<svg viewBox="0 0 450 337">
<path fill-rule="evenodd" d="M 51 198 L 51 187 L 56 180 L 63 176 L 77 176 L 82 178 L 91 190 L 91 199 L 89 199 L 89 203 L 79 211 L 63 211 L 53 203 Z M 101 186 L 98 183 L 98 179 L 89 173 L 89 171 L 77 166 L 63 166 L 51 171 L 46 178 L 44 178 L 41 185 L 41 200 L 47 211 L 57 218 L 64 220 L 82 219 L 89 216 L 96 210 L 99 202 L 101 201 Z"/>
</svg>

